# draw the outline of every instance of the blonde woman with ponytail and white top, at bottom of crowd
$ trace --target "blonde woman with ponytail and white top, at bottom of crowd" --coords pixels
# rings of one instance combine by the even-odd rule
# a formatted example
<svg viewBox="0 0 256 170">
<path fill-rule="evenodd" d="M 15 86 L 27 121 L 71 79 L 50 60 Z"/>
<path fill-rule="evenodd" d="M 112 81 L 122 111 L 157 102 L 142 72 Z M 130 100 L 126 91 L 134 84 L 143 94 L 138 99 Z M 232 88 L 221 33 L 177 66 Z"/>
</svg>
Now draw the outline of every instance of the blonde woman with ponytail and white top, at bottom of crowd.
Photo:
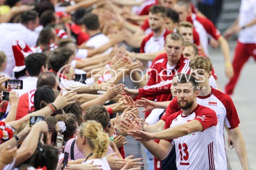
<svg viewBox="0 0 256 170">
<path fill-rule="evenodd" d="M 83 164 L 101 165 L 103 170 L 110 170 L 105 156 L 109 145 L 109 136 L 103 132 L 100 123 L 96 121 L 86 121 L 81 124 L 76 145 L 85 157 Z"/>
</svg>

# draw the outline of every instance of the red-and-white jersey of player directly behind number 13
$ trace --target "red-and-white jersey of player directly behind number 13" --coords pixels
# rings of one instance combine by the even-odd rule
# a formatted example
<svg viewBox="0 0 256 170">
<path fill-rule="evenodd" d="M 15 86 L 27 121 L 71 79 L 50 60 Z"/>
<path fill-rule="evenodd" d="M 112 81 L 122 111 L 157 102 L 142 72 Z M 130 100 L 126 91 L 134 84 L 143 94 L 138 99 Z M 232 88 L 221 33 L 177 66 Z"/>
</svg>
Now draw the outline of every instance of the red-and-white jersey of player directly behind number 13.
<svg viewBox="0 0 256 170">
<path fill-rule="evenodd" d="M 224 122 L 228 129 L 237 128 L 240 121 L 232 99 L 223 94 L 223 92 L 212 88 L 211 94 L 208 96 L 198 96 L 197 104 L 204 105 L 215 111 L 218 117 L 218 154 L 219 162 L 221 163 L 220 169 L 227 169 L 226 149 L 224 142 Z M 170 105 L 166 108 L 165 114 L 161 120 L 166 121 L 173 113 L 180 111 L 177 98 L 174 98 Z"/>
</svg>

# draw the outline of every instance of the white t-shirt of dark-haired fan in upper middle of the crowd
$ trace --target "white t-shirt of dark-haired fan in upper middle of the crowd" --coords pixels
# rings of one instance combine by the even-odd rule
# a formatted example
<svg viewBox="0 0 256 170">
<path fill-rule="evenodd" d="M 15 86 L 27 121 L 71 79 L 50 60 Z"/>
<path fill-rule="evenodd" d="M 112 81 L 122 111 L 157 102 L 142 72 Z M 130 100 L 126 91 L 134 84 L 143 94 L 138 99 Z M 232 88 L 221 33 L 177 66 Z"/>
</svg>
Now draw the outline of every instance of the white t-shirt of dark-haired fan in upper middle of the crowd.
<svg viewBox="0 0 256 170">
<path fill-rule="evenodd" d="M 87 41 L 86 46 L 99 48 L 107 44 L 109 41 L 110 39 L 107 36 L 103 35 L 103 33 L 98 33 L 96 35 L 91 36 L 91 38 Z M 112 50 L 113 47 L 110 47 L 102 54 L 109 54 Z"/>
</svg>

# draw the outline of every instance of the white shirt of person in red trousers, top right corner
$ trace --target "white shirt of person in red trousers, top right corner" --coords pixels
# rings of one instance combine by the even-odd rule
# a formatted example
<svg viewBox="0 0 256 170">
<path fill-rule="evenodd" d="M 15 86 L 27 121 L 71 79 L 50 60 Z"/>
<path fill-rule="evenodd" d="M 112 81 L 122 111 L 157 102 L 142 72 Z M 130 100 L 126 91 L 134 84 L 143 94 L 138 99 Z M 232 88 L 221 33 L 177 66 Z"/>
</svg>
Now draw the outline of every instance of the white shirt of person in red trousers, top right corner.
<svg viewBox="0 0 256 170">
<path fill-rule="evenodd" d="M 256 19 L 256 0 L 242 0 L 239 9 L 239 26 L 250 23 Z M 243 44 L 256 43 L 256 24 L 239 32 L 238 40 Z"/>
</svg>

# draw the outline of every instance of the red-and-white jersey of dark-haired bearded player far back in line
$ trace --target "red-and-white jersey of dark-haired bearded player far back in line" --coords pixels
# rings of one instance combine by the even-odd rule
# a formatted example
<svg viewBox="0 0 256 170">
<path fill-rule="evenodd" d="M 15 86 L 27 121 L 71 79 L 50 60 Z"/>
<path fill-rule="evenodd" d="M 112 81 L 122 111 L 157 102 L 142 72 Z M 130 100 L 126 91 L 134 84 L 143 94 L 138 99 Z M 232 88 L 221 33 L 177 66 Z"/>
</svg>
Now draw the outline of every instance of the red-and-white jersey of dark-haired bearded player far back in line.
<svg viewBox="0 0 256 170">
<path fill-rule="evenodd" d="M 150 33 L 145 37 L 140 46 L 140 53 L 155 53 L 164 49 L 165 38 L 167 35 L 172 33 L 164 29 L 163 33 L 159 37 L 154 37 L 154 33 Z"/>
</svg>

